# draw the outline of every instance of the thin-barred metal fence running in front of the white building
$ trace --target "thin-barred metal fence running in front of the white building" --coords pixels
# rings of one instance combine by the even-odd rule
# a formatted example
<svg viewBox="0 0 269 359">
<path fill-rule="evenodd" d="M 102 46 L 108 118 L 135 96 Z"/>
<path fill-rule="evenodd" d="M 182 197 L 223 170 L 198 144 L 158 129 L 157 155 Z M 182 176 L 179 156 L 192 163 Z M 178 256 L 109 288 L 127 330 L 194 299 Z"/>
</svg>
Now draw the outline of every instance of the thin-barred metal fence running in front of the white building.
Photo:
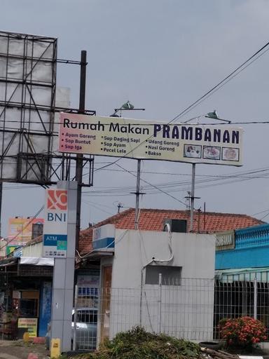
<svg viewBox="0 0 269 359">
<path fill-rule="evenodd" d="M 251 316 L 269 333 L 267 282 L 181 278 L 137 288 L 78 287 L 76 293 L 78 350 L 94 350 L 106 337 L 137 325 L 172 337 L 211 341 L 221 339 L 219 320 Z"/>
</svg>

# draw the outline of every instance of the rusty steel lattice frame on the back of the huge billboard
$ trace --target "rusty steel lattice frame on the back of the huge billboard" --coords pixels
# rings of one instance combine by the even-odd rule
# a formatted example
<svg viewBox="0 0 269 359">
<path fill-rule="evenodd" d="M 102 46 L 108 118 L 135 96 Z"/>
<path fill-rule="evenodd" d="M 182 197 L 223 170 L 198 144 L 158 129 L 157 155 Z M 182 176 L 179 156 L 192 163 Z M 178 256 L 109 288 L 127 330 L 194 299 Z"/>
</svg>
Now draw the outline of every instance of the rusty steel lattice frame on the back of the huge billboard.
<svg viewBox="0 0 269 359">
<path fill-rule="evenodd" d="M 40 184 L 42 186 L 49 186 L 51 184 L 56 184 L 59 180 L 74 180 L 74 173 L 71 171 L 71 168 L 76 166 L 77 157 L 72 156 L 70 154 L 58 154 L 53 153 L 53 137 L 55 135 L 54 126 L 55 126 L 55 113 L 64 111 L 64 112 L 73 112 L 78 113 L 78 109 L 67 109 L 63 107 L 55 107 L 55 94 L 56 94 L 56 64 L 57 62 L 65 63 L 65 64 L 75 64 L 81 65 L 81 62 L 74 62 L 70 60 L 57 60 L 57 39 L 46 37 L 46 36 L 36 36 L 29 34 L 18 34 L 11 32 L 0 32 L 0 38 L 5 37 L 8 41 L 11 39 L 19 39 L 24 41 L 24 55 L 11 55 L 8 53 L 0 53 L 0 57 L 6 57 L 6 62 L 8 66 L 8 60 L 10 58 L 18 58 L 22 60 L 23 63 L 23 76 L 22 79 L 10 79 L 8 78 L 8 72 L 6 71 L 6 79 L 1 78 L 0 83 L 6 83 L 6 91 L 8 85 L 14 84 L 15 89 L 13 93 L 7 97 L 5 95 L 5 100 L 0 101 L 0 106 L 3 107 L 2 111 L 0 111 L 0 122 L 3 121 L 3 124 L 0 128 L 0 182 L 20 182 L 20 183 L 32 183 L 32 184 Z M 32 55 L 28 55 L 27 49 L 27 41 L 41 41 L 43 43 L 47 43 L 48 46 L 53 46 L 53 56 L 51 59 L 47 57 L 43 57 L 40 55 L 39 57 L 34 57 L 34 46 L 32 46 Z M 47 48 L 46 48 L 47 49 Z M 43 54 L 46 53 L 46 50 L 43 51 Z M 25 64 L 26 62 L 31 61 L 32 67 L 31 71 L 25 73 Z M 34 65 L 33 65 L 34 62 Z M 51 62 L 52 65 L 52 78 L 50 83 L 42 83 L 39 81 L 33 81 L 32 72 L 34 67 L 38 63 L 41 62 Z M 33 86 L 44 86 L 46 88 L 50 88 L 51 97 L 50 97 L 50 105 L 45 106 L 42 104 L 36 104 L 34 97 L 32 95 Z M 22 86 L 22 101 L 13 101 L 12 97 L 15 93 L 15 90 L 18 86 Z M 25 96 L 29 95 L 30 101 L 26 103 Z M 9 108 L 17 108 L 20 110 L 20 118 L 14 118 L 15 122 L 20 122 L 20 128 L 10 129 L 6 126 L 6 110 Z M 37 114 L 37 117 L 40 121 L 40 124 L 43 128 L 43 131 L 39 131 L 36 133 L 39 136 L 45 136 L 48 138 L 48 146 L 46 151 L 39 153 L 36 151 L 36 148 L 32 142 L 32 136 L 35 134 L 31 130 L 31 115 L 29 115 L 29 120 L 25 119 L 25 111 L 26 110 L 34 111 Z M 46 111 L 46 114 L 49 114 L 50 123 L 45 123 L 42 118 L 41 111 Z M 94 116 L 95 111 L 85 110 L 84 114 L 89 114 Z M 8 121 L 12 122 L 12 121 Z M 46 126 L 48 124 L 48 126 Z M 4 136 L 6 133 L 11 133 L 11 139 L 4 146 Z M 17 156 L 8 156 L 9 149 L 13 146 L 13 142 L 19 138 L 19 151 Z M 2 143 L 1 143 L 2 142 Z M 23 150 L 23 146 L 27 147 L 27 151 Z M 8 161 L 10 158 L 11 161 L 15 161 L 16 163 L 16 175 L 15 178 L 4 178 L 3 176 L 3 167 L 4 161 Z M 94 156 L 83 155 L 82 156 L 82 167 L 85 173 L 83 173 L 83 182 L 81 183 L 82 187 L 90 187 L 92 186 L 92 178 L 93 178 L 93 163 Z M 29 174 L 34 174 L 33 178 L 29 178 Z"/>
</svg>

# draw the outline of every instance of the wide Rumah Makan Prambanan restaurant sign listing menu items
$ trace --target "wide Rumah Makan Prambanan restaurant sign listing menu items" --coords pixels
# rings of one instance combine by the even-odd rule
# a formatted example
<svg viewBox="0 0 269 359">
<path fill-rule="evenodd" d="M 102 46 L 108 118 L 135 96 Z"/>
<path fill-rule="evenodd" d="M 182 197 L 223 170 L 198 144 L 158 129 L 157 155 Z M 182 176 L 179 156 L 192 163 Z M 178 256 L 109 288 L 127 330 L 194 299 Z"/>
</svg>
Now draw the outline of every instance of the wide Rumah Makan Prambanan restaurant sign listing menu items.
<svg viewBox="0 0 269 359">
<path fill-rule="evenodd" d="M 240 166 L 242 128 L 62 113 L 59 151 Z"/>
</svg>

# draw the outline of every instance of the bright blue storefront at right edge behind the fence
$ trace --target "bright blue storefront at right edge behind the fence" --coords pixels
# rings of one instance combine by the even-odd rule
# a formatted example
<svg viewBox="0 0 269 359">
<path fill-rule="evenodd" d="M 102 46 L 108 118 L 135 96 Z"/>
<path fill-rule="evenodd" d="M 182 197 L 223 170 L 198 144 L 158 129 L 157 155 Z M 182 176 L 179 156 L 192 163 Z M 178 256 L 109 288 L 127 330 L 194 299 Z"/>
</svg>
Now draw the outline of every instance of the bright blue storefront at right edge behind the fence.
<svg viewBox="0 0 269 359">
<path fill-rule="evenodd" d="M 251 316 L 269 334 L 269 224 L 216 235 L 214 323 Z"/>
</svg>

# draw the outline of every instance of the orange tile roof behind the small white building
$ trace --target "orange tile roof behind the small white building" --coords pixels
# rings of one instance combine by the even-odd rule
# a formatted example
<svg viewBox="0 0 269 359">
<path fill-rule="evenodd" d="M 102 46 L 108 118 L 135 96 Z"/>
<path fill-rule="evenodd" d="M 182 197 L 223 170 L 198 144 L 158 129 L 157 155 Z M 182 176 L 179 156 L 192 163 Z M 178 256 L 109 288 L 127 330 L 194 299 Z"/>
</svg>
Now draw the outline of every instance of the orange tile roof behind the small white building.
<svg viewBox="0 0 269 359">
<path fill-rule="evenodd" d="M 141 209 L 139 212 L 139 229 L 142 231 L 163 231 L 165 219 L 187 219 L 189 223 L 190 211 Z M 199 233 L 216 233 L 264 223 L 248 215 L 218 212 L 195 211 L 193 219 L 193 231 Z M 118 229 L 135 229 L 135 208 L 129 208 L 81 231 L 79 252 L 87 253 L 92 250 L 92 229 L 104 224 L 115 224 Z"/>
</svg>

